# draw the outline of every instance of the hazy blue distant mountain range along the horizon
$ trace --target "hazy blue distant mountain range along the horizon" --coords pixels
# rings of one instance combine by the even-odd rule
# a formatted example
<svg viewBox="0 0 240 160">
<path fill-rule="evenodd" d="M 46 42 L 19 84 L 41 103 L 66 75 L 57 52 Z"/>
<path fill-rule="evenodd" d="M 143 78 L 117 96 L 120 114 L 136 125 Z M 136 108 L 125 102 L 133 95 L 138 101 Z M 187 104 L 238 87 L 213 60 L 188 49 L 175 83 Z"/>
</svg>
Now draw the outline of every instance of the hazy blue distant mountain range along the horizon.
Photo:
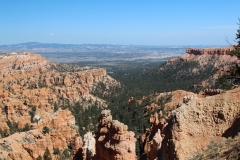
<svg viewBox="0 0 240 160">
<path fill-rule="evenodd" d="M 209 48 L 209 47 L 223 47 L 223 46 L 144 46 L 144 45 L 110 45 L 110 44 L 58 44 L 58 43 L 38 43 L 27 42 L 12 45 L 0 45 L 0 53 L 8 52 L 112 52 L 112 53 L 160 53 L 163 51 L 170 51 L 171 49 L 183 49 L 188 47 Z"/>
</svg>

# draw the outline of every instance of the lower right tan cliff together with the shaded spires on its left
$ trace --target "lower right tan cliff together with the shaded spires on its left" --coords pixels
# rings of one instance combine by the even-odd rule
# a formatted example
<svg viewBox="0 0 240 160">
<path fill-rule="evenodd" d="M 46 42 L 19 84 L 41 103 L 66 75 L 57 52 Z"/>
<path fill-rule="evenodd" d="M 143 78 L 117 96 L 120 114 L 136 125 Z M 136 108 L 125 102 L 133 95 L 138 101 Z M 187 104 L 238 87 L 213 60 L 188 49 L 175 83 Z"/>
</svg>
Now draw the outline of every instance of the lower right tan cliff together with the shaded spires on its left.
<svg viewBox="0 0 240 160">
<path fill-rule="evenodd" d="M 151 116 L 145 134 L 145 153 L 155 158 L 189 159 L 211 141 L 234 137 L 240 131 L 240 88 L 181 103 L 171 115 Z"/>
</svg>

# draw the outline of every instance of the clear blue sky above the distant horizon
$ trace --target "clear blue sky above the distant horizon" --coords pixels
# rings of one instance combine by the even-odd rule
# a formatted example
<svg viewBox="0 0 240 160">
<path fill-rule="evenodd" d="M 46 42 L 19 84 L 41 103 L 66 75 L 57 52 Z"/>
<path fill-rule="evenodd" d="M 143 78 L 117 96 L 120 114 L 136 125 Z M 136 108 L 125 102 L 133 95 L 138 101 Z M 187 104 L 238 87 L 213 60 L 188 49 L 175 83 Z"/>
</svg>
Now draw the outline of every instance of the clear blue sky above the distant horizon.
<svg viewBox="0 0 240 160">
<path fill-rule="evenodd" d="M 0 0 L 0 44 L 234 43 L 239 0 Z"/>
</svg>

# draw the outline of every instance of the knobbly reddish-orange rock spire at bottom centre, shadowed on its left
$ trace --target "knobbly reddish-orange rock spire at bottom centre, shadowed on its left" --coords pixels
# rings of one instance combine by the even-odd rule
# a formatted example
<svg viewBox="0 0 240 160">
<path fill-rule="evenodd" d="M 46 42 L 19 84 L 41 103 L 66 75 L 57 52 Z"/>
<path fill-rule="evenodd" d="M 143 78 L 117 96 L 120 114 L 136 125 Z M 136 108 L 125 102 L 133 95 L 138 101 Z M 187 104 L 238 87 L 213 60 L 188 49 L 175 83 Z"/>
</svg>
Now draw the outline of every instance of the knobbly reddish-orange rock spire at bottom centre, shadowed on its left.
<svg viewBox="0 0 240 160">
<path fill-rule="evenodd" d="M 117 120 L 112 120 L 109 110 L 103 110 L 96 135 L 97 160 L 136 160 L 134 133 Z"/>
</svg>

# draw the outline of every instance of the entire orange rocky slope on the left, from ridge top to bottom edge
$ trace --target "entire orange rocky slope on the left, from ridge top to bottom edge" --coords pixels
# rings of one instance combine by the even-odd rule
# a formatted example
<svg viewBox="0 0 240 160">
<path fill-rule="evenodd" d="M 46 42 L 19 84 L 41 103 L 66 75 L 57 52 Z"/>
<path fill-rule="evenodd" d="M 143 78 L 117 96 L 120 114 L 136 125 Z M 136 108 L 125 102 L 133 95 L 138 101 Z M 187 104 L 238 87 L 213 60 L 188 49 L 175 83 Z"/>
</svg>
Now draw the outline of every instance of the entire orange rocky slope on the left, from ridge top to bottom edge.
<svg viewBox="0 0 240 160">
<path fill-rule="evenodd" d="M 63 71 L 29 52 L 1 54 L 0 67 L 0 158 L 6 159 L 36 159 L 46 148 L 54 159 L 69 159 L 68 148 L 78 144 L 75 155 L 82 142 L 71 111 L 61 108 L 83 101 L 89 102 L 83 107 L 106 107 L 90 93 L 99 82 L 104 90 L 119 85 L 105 69 Z"/>
</svg>

